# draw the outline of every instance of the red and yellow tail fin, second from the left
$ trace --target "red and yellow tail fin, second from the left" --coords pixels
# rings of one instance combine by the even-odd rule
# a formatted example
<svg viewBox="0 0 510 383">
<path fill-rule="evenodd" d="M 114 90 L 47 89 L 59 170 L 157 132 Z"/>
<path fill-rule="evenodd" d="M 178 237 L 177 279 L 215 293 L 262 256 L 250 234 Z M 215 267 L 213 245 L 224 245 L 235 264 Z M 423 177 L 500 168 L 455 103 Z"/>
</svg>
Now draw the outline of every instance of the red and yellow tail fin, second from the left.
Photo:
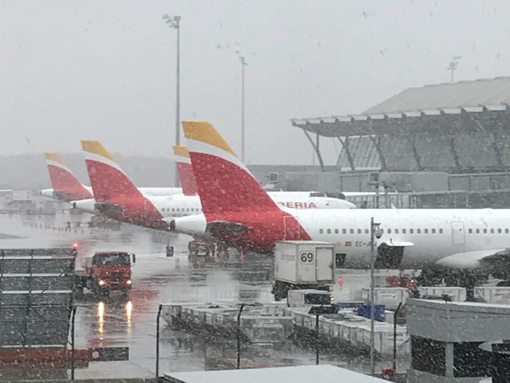
<svg viewBox="0 0 510 383">
<path fill-rule="evenodd" d="M 142 193 L 99 141 L 82 140 L 81 148 L 96 202 L 143 200 Z"/>
</svg>

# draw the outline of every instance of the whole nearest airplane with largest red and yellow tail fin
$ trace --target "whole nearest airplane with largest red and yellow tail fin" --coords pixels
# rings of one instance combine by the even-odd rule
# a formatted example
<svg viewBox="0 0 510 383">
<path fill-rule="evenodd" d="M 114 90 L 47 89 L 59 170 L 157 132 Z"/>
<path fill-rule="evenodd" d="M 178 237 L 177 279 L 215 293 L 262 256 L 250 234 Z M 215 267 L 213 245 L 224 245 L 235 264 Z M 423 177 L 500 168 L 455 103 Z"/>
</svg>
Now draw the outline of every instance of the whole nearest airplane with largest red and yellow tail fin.
<svg viewBox="0 0 510 383">
<path fill-rule="evenodd" d="M 183 121 L 183 130 L 203 213 L 167 219 L 174 230 L 210 233 L 231 246 L 263 253 L 272 253 L 274 242 L 283 239 L 332 242 L 343 266 L 365 268 L 374 217 L 382 232 L 376 242 L 379 267 L 440 261 L 473 268 L 510 259 L 510 210 L 283 208 L 211 124 Z M 232 183 L 232 177 L 238 183 Z"/>
</svg>

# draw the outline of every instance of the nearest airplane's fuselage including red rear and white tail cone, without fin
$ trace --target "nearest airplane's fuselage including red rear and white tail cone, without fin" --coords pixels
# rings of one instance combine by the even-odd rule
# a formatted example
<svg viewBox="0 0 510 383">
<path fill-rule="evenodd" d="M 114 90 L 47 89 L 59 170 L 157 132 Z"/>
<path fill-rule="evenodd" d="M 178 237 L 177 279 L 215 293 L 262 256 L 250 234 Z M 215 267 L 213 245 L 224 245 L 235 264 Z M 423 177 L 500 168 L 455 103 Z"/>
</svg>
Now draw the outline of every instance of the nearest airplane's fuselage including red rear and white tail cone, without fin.
<svg viewBox="0 0 510 383">
<path fill-rule="evenodd" d="M 252 219 L 249 212 L 232 213 L 220 221 L 246 228 L 240 237 L 229 239 L 232 246 L 270 253 L 281 240 L 329 242 L 336 244 L 336 253 L 345 254 L 346 268 L 369 267 L 371 217 L 382 229 L 374 241 L 376 256 L 383 244 L 403 250 L 399 263 L 387 268 L 420 268 L 439 260 L 447 266 L 473 268 L 483 255 L 510 248 L 507 209 L 282 210 L 266 213 L 264 219 L 261 215 Z M 299 225 L 287 225 L 292 218 Z M 172 227 L 183 233 L 204 233 L 215 220 L 204 215 L 181 217 L 173 220 Z"/>
</svg>

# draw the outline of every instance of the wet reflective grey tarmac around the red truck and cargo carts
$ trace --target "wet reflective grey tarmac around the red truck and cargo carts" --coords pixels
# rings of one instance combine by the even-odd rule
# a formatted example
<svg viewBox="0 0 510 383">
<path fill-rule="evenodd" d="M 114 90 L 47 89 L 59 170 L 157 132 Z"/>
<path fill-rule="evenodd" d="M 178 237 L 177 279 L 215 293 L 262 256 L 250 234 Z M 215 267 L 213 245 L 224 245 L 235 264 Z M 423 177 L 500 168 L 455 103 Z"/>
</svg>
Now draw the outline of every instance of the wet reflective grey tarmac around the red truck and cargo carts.
<svg viewBox="0 0 510 383">
<path fill-rule="evenodd" d="M 128 298 L 112 295 L 99 300 L 88 295 L 77 302 L 76 312 L 76 348 L 128 347 L 129 360 L 91 362 L 86 368 L 76 370 L 76 378 L 154 377 L 156 314 L 161 303 L 272 301 L 269 278 L 272 259 L 268 257 L 245 258 L 241 265 L 195 269 L 187 260 L 190 237 L 130 225 L 122 225 L 120 230 L 89 228 L 88 219 L 90 215 L 69 213 L 0 215 L 0 248 L 70 246 L 77 242 L 77 268 L 81 259 L 94 251 L 123 250 L 136 254 L 133 287 Z M 79 227 L 76 222 L 81 222 Z M 175 248 L 174 257 L 165 255 L 167 241 Z M 342 287 L 336 286 L 337 301 L 354 299 L 362 287 L 369 286 L 368 273 L 364 271 L 339 271 L 340 275 L 344 283 Z M 380 278 L 384 279 L 384 275 Z M 232 368 L 235 360 L 233 340 L 179 333 L 161 321 L 161 373 Z M 356 371 L 369 370 L 367 357 L 363 355 L 325 354 L 320 360 Z M 308 348 L 289 342 L 280 348 L 245 345 L 241 365 L 289 366 L 314 362 L 313 345 Z M 378 362 L 377 369 L 381 366 L 391 366 L 391 362 Z M 401 369 L 406 366 L 406 360 L 399 362 Z"/>
</svg>

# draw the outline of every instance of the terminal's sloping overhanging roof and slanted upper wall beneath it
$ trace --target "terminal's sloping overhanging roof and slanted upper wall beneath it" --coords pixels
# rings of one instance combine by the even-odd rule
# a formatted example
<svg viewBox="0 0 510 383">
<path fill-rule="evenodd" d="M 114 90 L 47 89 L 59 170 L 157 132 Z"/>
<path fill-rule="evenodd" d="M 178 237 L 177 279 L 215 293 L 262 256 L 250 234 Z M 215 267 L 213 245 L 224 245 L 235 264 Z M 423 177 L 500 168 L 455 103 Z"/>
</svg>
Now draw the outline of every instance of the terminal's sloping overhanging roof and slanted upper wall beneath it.
<svg viewBox="0 0 510 383">
<path fill-rule="evenodd" d="M 360 115 L 293 119 L 321 166 L 337 139 L 341 170 L 507 171 L 510 77 L 409 88 Z M 312 135 L 315 135 L 313 139 Z"/>
</svg>

